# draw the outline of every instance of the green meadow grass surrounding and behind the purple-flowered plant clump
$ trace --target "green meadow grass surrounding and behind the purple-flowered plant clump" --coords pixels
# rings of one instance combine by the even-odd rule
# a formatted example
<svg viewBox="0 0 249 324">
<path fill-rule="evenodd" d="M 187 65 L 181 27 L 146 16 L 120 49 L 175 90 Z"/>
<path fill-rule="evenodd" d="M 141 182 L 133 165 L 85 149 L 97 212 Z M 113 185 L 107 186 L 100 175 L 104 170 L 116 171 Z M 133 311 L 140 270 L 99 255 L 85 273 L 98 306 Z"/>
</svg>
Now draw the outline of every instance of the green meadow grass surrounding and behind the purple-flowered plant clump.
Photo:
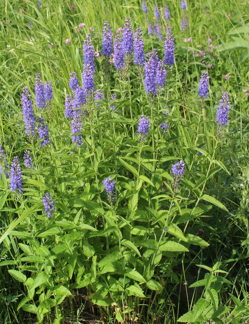
<svg viewBox="0 0 249 324">
<path fill-rule="evenodd" d="M 164 5 L 161 1 L 157 1 L 157 3 L 158 7 Z M 153 321 L 155 317 L 155 321 L 158 320 L 158 322 L 176 323 L 177 319 L 183 313 L 189 311 L 190 307 L 203 294 L 200 289 L 195 289 L 194 294 L 191 294 L 191 292 L 189 293 L 190 288 L 184 285 L 186 281 L 191 284 L 193 281 L 203 279 L 205 271 L 197 268 L 195 264 L 212 267 L 213 264 L 221 261 L 221 269 L 227 272 L 225 276 L 233 285 L 224 287 L 224 290 L 219 293 L 220 300 L 224 305 L 234 307 L 235 302 L 229 295 L 230 293 L 237 296 L 247 305 L 242 312 L 242 319 L 236 322 L 236 324 L 243 323 L 248 320 L 247 288 L 249 283 L 246 266 L 249 245 L 249 118 L 248 96 L 246 95 L 247 92 L 243 91 L 243 89 L 247 89 L 249 92 L 249 73 L 247 69 L 249 55 L 246 52 L 248 51 L 248 4 L 234 0 L 204 0 L 202 5 L 210 15 L 210 20 L 208 14 L 201 8 L 199 1 L 188 1 L 190 28 L 184 33 L 180 30 L 180 3 L 176 5 L 175 0 L 168 0 L 167 3 L 171 15 L 170 26 L 176 44 L 176 64 L 171 73 L 168 93 L 166 93 L 167 91 L 163 93 L 162 103 L 160 103 L 159 108 L 160 111 L 163 111 L 163 104 L 166 103 L 168 95 L 171 113 L 169 133 L 171 143 L 176 147 L 169 146 L 165 153 L 172 156 L 173 162 L 176 162 L 176 158 L 179 157 L 189 162 L 188 179 L 193 183 L 196 183 L 201 175 L 206 174 L 209 160 L 204 156 L 199 158 L 196 156 L 196 151 L 185 147 L 201 147 L 205 145 L 205 150 L 212 152 L 215 147 L 212 136 L 215 136 L 216 133 L 216 110 L 221 95 L 224 91 L 228 91 L 231 96 L 232 109 L 229 115 L 228 127 L 222 133 L 223 145 L 216 151 L 215 159 L 222 161 L 230 171 L 230 175 L 223 170 L 216 173 L 207 182 L 205 192 L 222 202 L 229 212 L 214 206 L 211 211 L 207 211 L 204 216 L 189 224 L 189 233 L 199 235 L 210 246 L 201 249 L 193 247 L 189 253 L 182 255 L 180 261 L 175 261 L 172 264 L 166 262 L 165 268 L 161 272 L 158 271 L 159 276 L 160 273 L 165 274 L 170 270 L 171 279 L 165 291 L 160 295 L 160 303 L 153 309 L 154 314 L 149 320 Z M 45 151 L 37 153 L 38 164 L 44 163 L 44 166 L 46 165 L 47 162 L 42 160 L 44 156 L 47 156 L 49 161 L 48 169 L 45 171 L 41 169 L 37 176 L 40 181 L 44 180 L 44 182 L 46 176 L 51 177 L 51 179 L 54 177 L 54 183 L 58 188 L 63 188 L 62 182 L 58 180 L 61 175 L 60 168 L 66 169 L 63 164 L 60 165 L 60 162 L 63 163 L 63 159 L 60 160 L 61 152 L 64 149 L 65 151 L 69 150 L 70 147 L 70 138 L 68 137 L 70 135 L 70 126 L 65 122 L 64 118 L 64 100 L 66 94 L 69 93 L 70 72 L 76 71 L 78 76 L 82 72 L 82 44 L 86 33 L 90 32 L 90 28 L 94 29 L 92 31 L 94 50 L 101 53 L 102 27 L 105 19 L 109 20 L 115 34 L 115 30 L 124 25 L 125 18 L 130 17 L 134 30 L 138 27 L 142 29 L 145 52 L 152 51 L 156 47 L 160 58 L 163 57 L 164 52 L 163 40 L 159 40 L 154 35 L 147 35 L 145 16 L 142 12 L 142 1 L 123 1 L 121 4 L 120 1 L 113 0 L 84 0 L 74 2 L 74 5 L 75 11 L 72 10 L 69 2 L 59 0 L 42 1 L 41 10 L 38 9 L 36 1 L 13 0 L 0 3 L 2 13 L 0 20 L 0 143 L 5 148 L 9 164 L 13 160 L 13 156 L 22 155 L 21 152 L 24 149 L 30 148 L 24 132 L 20 98 L 24 86 L 28 86 L 34 97 L 35 75 L 40 72 L 42 80 L 51 80 L 54 88 L 53 119 L 49 121 L 49 129 L 55 146 L 51 151 L 52 153 Z M 148 17 L 150 21 L 153 21 L 154 1 L 147 1 L 147 6 Z M 231 18 L 227 17 L 229 13 Z M 29 22 L 31 22 L 31 27 L 28 26 Z M 85 28 L 77 32 L 75 26 L 82 22 L 85 23 Z M 161 24 L 163 24 L 163 21 L 161 21 Z M 163 30 L 163 35 L 165 36 L 165 30 Z M 185 42 L 184 39 L 189 37 L 191 37 L 191 42 Z M 71 39 L 70 44 L 65 43 L 68 38 Z M 208 38 L 211 38 L 212 43 L 207 42 Z M 52 47 L 49 46 L 51 43 L 54 44 Z M 210 44 L 215 46 L 212 53 L 209 51 Z M 198 54 L 200 50 L 206 52 L 205 58 L 193 55 Z M 203 62 L 203 60 L 206 61 Z M 95 85 L 96 87 L 103 87 L 102 56 L 100 55 L 100 58 L 96 59 L 95 62 Z M 197 95 L 197 89 L 200 75 L 204 70 L 207 70 L 207 64 L 211 64 L 208 68 L 211 77 L 210 95 L 205 101 L 206 117 L 203 118 L 201 115 L 199 120 L 200 99 Z M 120 88 L 113 66 L 111 71 L 111 89 Z M 225 79 L 225 75 L 231 77 Z M 139 91 L 136 90 L 139 89 L 139 83 L 135 77 L 136 70 L 134 69 L 131 71 L 131 78 L 133 79 L 132 95 Z M 118 91 L 116 93 L 119 94 Z M 125 95 L 123 94 L 123 96 Z M 145 96 L 142 98 L 141 103 L 144 106 L 146 105 Z M 141 103 L 140 105 L 133 105 L 135 118 L 141 115 Z M 121 110 L 120 107 L 119 111 Z M 128 117 L 128 113 L 126 113 L 126 117 Z M 107 123 L 107 121 L 105 122 Z M 89 125 L 86 124 L 86 128 L 90 130 Z M 117 135 L 121 136 L 122 130 L 123 126 L 117 124 Z M 94 132 L 96 134 L 101 133 L 97 127 L 94 128 Z M 106 135 L 104 132 L 101 134 L 102 138 L 107 141 L 110 134 Z M 196 137 L 196 134 L 198 134 L 198 137 Z M 86 132 L 87 136 L 90 138 L 89 133 Z M 68 139 L 66 139 L 67 137 Z M 131 143 L 135 142 L 129 142 L 129 140 L 125 139 L 123 144 L 118 144 L 119 150 L 127 149 L 127 146 L 131 145 Z M 102 145 L 106 145 L 106 142 L 100 141 L 99 146 Z M 36 148 L 38 146 L 36 144 Z M 109 151 L 104 151 L 103 156 L 110 158 Z M 86 155 L 83 161 L 87 161 Z M 163 167 L 169 169 L 172 161 L 163 162 Z M 72 161 L 67 161 L 66 166 L 69 166 L 70 163 L 73 165 Z M 74 161 L 74 163 L 78 163 L 78 161 Z M 116 167 L 120 168 L 117 161 L 115 163 Z M 53 169 L 51 165 L 56 165 L 56 168 Z M 90 164 L 84 165 L 83 162 L 79 161 L 78 167 L 73 170 L 73 175 L 78 176 L 78 168 L 84 170 L 89 166 Z M 190 166 L 191 168 L 189 168 Z M 65 172 L 69 174 L 68 170 Z M 107 174 L 109 170 L 105 169 L 105 172 Z M 103 174 L 105 173 L 103 172 Z M 26 178 L 30 177 L 28 174 L 25 176 Z M 94 176 L 90 175 L 89 179 L 90 182 L 93 182 Z M 81 180 L 87 181 L 85 178 Z M 185 198 L 191 200 L 193 193 L 188 185 L 189 183 L 186 180 L 186 183 L 184 182 Z M 7 187 L 2 187 L 1 193 L 3 194 L 6 190 Z M 37 202 L 33 190 L 30 187 L 28 199 L 30 199 L 30 202 Z M 38 187 L 38 191 L 40 190 L 41 188 Z M 64 194 L 65 196 L 68 195 L 66 192 Z M 58 199 L 59 197 L 60 194 L 58 193 Z M 69 213 L 69 208 L 66 204 L 63 205 L 62 198 L 60 204 Z M 17 206 L 19 206 L 19 212 Z M 23 207 L 23 205 L 21 206 Z M 8 196 L 1 209 L 2 207 L 0 227 L 3 233 L 16 216 L 22 214 L 22 207 L 20 207 L 20 202 L 16 201 L 13 195 Z M 61 209 L 63 209 L 62 207 Z M 193 208 L 193 206 L 190 206 L 190 208 Z M 25 205 L 24 209 L 27 210 L 27 205 Z M 36 226 L 42 230 L 44 226 L 43 219 L 41 212 L 38 212 L 38 221 L 36 225 L 29 224 L 29 230 L 37 230 Z M 31 223 L 31 220 L 30 216 L 28 221 Z M 9 259 L 20 257 L 22 250 L 18 244 L 22 241 L 22 239 L 15 236 L 5 239 L 1 243 L 1 258 L 5 260 L 6 255 Z M 27 293 L 26 288 L 13 279 L 7 271 L 9 269 L 12 269 L 11 265 L 0 267 L 0 321 L 1 323 L 29 323 L 34 320 L 34 314 L 31 313 L 30 315 L 23 309 L 16 310 L 17 305 L 23 298 L 23 294 Z M 183 293 L 184 290 L 187 292 Z M 91 292 L 84 290 L 77 291 L 77 293 L 82 296 Z M 113 320 L 111 318 L 112 313 L 105 314 L 104 310 L 100 313 L 101 310 L 97 311 L 96 307 L 86 303 L 85 299 L 80 300 L 77 293 L 75 293 L 76 295 L 71 303 L 67 301 L 63 305 L 66 314 L 65 318 L 72 319 L 73 323 L 77 323 L 77 316 L 78 319 L 87 318 L 87 313 L 91 313 L 96 318 L 106 317 L 104 318 L 106 322 Z M 87 306 L 84 308 L 82 305 L 85 303 Z M 75 308 L 78 309 L 78 313 Z M 83 311 L 80 313 L 82 309 Z M 223 318 L 222 320 L 229 323 L 230 318 Z M 52 317 L 45 317 L 44 323 L 50 321 L 53 321 Z"/>
</svg>

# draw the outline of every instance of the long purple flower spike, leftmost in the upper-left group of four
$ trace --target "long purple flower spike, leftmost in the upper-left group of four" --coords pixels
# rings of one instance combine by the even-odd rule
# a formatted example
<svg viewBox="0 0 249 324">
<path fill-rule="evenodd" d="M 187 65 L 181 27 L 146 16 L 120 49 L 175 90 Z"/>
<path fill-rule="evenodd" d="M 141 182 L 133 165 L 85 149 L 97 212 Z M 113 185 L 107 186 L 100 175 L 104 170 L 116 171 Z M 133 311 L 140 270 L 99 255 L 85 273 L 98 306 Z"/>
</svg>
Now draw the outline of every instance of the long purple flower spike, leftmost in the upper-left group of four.
<svg viewBox="0 0 249 324">
<path fill-rule="evenodd" d="M 35 136 L 35 116 L 33 111 L 33 104 L 30 100 L 31 94 L 28 94 L 29 89 L 28 87 L 23 88 L 22 93 L 22 113 L 23 113 L 23 120 L 25 122 L 25 130 L 26 134 L 29 137 Z"/>
</svg>

